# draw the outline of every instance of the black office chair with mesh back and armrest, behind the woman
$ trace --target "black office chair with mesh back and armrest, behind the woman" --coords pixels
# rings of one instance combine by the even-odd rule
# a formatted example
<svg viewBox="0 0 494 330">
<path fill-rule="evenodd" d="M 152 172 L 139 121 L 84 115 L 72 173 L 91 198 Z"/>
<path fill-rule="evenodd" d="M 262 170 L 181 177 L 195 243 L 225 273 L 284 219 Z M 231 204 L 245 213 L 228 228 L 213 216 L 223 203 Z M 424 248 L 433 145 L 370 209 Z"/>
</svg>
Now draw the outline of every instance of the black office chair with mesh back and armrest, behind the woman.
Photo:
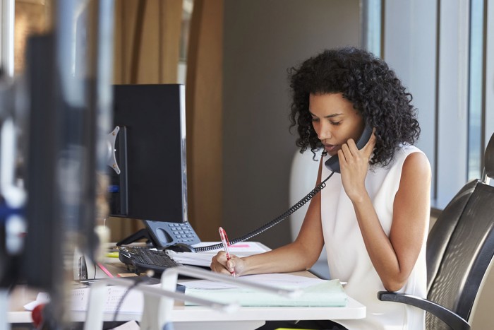
<svg viewBox="0 0 494 330">
<path fill-rule="evenodd" d="M 380 291 L 382 301 L 425 310 L 426 329 L 471 329 L 478 293 L 494 256 L 494 134 L 483 180 L 466 184 L 440 213 L 427 240 L 427 299 Z"/>
</svg>

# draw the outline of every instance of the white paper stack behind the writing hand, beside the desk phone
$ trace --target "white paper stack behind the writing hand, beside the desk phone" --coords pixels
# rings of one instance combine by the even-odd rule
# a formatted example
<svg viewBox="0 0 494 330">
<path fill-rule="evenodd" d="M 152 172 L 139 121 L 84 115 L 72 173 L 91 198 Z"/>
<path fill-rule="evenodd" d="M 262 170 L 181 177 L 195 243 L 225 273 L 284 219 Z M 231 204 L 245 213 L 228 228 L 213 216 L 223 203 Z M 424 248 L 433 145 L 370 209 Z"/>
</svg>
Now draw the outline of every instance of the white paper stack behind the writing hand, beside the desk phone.
<svg viewBox="0 0 494 330">
<path fill-rule="evenodd" d="M 217 244 L 217 242 L 202 242 L 200 244 L 195 245 L 194 247 L 207 246 Z M 222 251 L 222 249 L 214 249 L 208 252 L 174 252 L 171 250 L 166 250 L 167 254 L 171 259 L 178 262 L 179 264 L 184 265 L 193 265 L 193 266 L 203 266 L 209 267 L 211 264 L 212 257 L 218 253 L 218 251 Z M 233 244 L 229 246 L 229 251 L 231 254 L 236 255 L 237 257 L 247 257 L 252 254 L 258 254 L 266 252 L 267 249 L 263 244 L 258 242 L 240 242 L 237 244 Z"/>
</svg>

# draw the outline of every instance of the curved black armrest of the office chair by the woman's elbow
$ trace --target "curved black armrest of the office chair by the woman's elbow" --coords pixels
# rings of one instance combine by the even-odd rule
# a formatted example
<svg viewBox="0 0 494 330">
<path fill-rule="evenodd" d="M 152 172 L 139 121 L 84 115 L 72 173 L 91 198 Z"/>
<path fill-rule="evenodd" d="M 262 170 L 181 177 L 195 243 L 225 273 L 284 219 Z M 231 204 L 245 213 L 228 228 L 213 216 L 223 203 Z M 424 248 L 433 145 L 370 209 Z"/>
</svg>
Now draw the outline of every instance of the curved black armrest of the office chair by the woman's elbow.
<svg viewBox="0 0 494 330">
<path fill-rule="evenodd" d="M 430 314 L 435 315 L 442 322 L 445 322 L 453 330 L 470 330 L 470 324 L 466 322 L 458 314 L 447 310 L 445 307 L 431 302 L 430 300 L 423 299 L 421 297 L 416 297 L 414 295 L 406 295 L 405 293 L 392 293 L 387 291 L 379 291 L 378 299 L 381 301 L 392 301 L 392 302 L 402 302 L 406 305 L 411 305 L 425 310 Z"/>
</svg>

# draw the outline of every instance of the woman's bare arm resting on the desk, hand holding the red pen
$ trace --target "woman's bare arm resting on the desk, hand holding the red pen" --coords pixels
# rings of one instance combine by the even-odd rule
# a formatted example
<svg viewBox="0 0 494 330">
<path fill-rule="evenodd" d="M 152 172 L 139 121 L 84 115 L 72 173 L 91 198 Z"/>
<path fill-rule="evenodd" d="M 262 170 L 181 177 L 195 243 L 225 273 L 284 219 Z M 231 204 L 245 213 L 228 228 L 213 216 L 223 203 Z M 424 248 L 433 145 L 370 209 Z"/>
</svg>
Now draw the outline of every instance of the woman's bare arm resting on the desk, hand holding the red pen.
<svg viewBox="0 0 494 330">
<path fill-rule="evenodd" d="M 323 160 L 321 159 L 321 163 Z M 317 184 L 321 179 L 321 165 Z M 275 235 L 272 231 L 272 235 Z M 270 252 L 239 258 L 231 256 L 227 261 L 224 252 L 213 257 L 211 269 L 220 273 L 235 270 L 239 276 L 255 273 L 285 273 L 310 269 L 323 249 L 323 229 L 320 220 L 320 194 L 316 194 L 308 206 L 302 227 L 296 240 Z"/>
</svg>

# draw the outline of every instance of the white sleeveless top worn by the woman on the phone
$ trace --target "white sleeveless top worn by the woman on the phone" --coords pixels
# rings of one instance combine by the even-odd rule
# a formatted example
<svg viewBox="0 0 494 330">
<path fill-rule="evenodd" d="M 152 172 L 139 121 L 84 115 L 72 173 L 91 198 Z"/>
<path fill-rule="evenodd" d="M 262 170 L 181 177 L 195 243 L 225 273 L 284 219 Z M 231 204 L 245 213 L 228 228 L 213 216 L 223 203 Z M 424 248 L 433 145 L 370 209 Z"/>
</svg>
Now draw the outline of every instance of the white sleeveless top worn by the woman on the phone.
<svg viewBox="0 0 494 330">
<path fill-rule="evenodd" d="M 378 214 L 382 229 L 390 235 L 394 195 L 398 191 L 402 166 L 410 153 L 422 152 L 415 146 L 397 151 L 387 168 L 375 167 L 366 177 L 366 189 Z M 327 155 L 325 160 L 330 156 Z M 325 161 L 324 160 L 324 161 Z M 322 179 L 330 175 L 323 165 Z M 367 307 L 366 318 L 337 320 L 348 329 L 425 329 L 425 312 L 398 302 L 381 302 L 378 291 L 385 290 L 363 243 L 354 207 L 335 173 L 321 191 L 321 218 L 331 278 L 347 282 L 344 289 L 350 297 Z M 399 292 L 426 297 L 426 240 L 409 280 Z"/>
</svg>

